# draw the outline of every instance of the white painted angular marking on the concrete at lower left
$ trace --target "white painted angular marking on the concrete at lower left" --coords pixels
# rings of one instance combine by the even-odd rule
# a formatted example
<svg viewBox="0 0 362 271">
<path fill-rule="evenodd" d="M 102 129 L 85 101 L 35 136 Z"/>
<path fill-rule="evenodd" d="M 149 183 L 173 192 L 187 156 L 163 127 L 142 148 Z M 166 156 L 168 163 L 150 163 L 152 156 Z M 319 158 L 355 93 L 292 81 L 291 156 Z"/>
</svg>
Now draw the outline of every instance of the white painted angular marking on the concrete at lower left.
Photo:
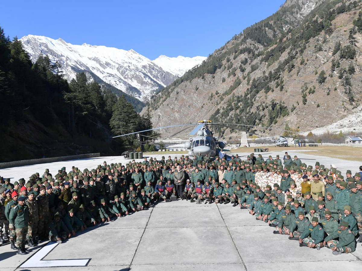
<svg viewBox="0 0 362 271">
<path fill-rule="evenodd" d="M 39 249 L 26 262 L 18 268 L 28 267 L 59 267 L 59 266 L 87 266 L 90 259 L 60 259 L 60 260 L 43 260 L 57 245 L 56 242 L 49 242 L 46 246 Z"/>
</svg>

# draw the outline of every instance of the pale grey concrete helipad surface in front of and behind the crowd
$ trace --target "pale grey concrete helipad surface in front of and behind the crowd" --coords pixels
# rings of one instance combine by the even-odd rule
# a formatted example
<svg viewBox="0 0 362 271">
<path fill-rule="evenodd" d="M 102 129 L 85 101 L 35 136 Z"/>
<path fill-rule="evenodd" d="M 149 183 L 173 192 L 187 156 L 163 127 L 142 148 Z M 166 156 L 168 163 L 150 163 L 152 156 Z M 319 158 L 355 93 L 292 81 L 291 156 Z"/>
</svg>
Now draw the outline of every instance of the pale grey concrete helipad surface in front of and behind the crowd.
<svg viewBox="0 0 362 271">
<path fill-rule="evenodd" d="M 333 163 L 342 173 L 346 169 L 354 173 L 361 163 L 317 158 L 311 152 L 288 152 L 292 156 L 298 153 L 302 162 L 307 164 L 314 165 L 316 160 L 326 166 Z M 269 154 L 282 156 L 283 150 L 263 153 L 263 156 Z M 90 169 L 104 160 L 108 163 L 126 162 L 121 157 L 100 157 L 2 169 L 0 175 L 14 177 L 14 181 L 21 177 L 27 179 L 35 172 L 42 174 L 45 168 L 52 173 L 63 166 L 69 170 L 72 165 Z M 63 244 L 42 243 L 30 249 L 28 255 L 17 255 L 9 245 L 2 246 L 0 271 L 352 270 L 362 267 L 361 244 L 357 244 L 352 254 L 334 256 L 327 248 L 319 251 L 299 248 L 298 241 L 274 235 L 273 229 L 255 220 L 246 210 L 230 204 L 198 205 L 181 200 L 162 202 L 150 210 L 89 228 Z M 60 267 L 64 265 L 66 267 Z"/>
</svg>

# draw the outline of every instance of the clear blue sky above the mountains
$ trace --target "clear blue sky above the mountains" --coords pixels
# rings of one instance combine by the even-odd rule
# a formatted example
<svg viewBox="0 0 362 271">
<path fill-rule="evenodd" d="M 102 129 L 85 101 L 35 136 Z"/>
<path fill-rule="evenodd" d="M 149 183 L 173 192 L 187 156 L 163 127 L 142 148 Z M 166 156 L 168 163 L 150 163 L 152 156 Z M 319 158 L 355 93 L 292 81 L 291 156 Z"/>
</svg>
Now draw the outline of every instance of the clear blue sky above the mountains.
<svg viewBox="0 0 362 271">
<path fill-rule="evenodd" d="M 207 56 L 285 0 L 3 1 L 0 26 L 10 38 L 32 34 L 104 45 L 155 59 Z"/>
</svg>

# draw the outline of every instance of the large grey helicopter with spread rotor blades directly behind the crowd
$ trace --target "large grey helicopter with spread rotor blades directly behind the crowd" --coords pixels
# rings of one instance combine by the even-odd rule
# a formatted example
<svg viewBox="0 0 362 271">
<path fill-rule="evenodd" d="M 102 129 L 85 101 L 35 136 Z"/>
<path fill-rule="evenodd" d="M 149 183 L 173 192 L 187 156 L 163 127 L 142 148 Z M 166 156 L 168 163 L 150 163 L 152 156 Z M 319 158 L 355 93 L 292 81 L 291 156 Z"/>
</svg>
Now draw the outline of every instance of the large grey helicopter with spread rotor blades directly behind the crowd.
<svg viewBox="0 0 362 271">
<path fill-rule="evenodd" d="M 158 127 L 158 128 L 128 133 L 128 134 L 122 134 L 120 136 L 114 136 L 112 138 L 129 136 L 131 134 L 138 134 L 138 133 L 148 132 L 148 131 L 152 131 L 152 130 L 173 128 L 173 127 L 179 127 L 179 126 L 190 126 L 190 125 L 197 125 L 197 126 L 189 133 L 189 136 L 195 136 L 195 135 L 196 136 L 190 137 L 189 141 L 185 142 L 185 148 L 189 150 L 188 155 L 195 156 L 195 155 L 201 154 L 202 156 L 205 156 L 206 154 L 209 154 L 211 158 L 214 158 L 219 153 L 220 149 L 223 149 L 225 147 L 225 143 L 223 141 L 219 141 L 218 137 L 214 137 L 213 133 L 211 132 L 211 130 L 208 127 L 209 125 L 223 126 L 223 127 L 236 129 L 236 130 L 240 130 L 240 131 L 247 132 L 249 134 L 255 134 L 255 135 L 258 135 L 258 134 L 253 133 L 251 131 L 247 131 L 245 129 L 236 128 L 236 127 L 232 127 L 232 126 L 228 126 L 228 125 L 241 125 L 241 126 L 247 126 L 247 127 L 257 127 L 257 128 L 264 128 L 264 129 L 286 131 L 286 130 L 282 130 L 282 129 L 262 127 L 262 126 L 256 126 L 256 125 L 246 125 L 246 124 L 239 124 L 239 123 L 215 123 L 215 122 L 212 122 L 211 120 L 199 120 L 197 123 L 163 126 L 163 127 Z M 185 130 L 185 129 L 183 129 L 183 130 Z"/>
</svg>

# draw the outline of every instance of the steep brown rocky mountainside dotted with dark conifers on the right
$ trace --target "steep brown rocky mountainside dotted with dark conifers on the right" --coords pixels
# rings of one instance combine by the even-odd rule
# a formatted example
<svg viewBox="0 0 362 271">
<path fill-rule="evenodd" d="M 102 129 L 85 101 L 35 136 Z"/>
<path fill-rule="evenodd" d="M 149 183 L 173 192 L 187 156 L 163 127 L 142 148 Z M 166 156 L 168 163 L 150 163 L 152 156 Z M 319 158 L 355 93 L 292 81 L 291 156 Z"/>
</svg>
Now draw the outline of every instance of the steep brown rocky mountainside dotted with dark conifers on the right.
<svg viewBox="0 0 362 271">
<path fill-rule="evenodd" d="M 211 119 L 281 129 L 288 123 L 308 131 L 358 112 L 361 8 L 360 0 L 287 0 L 153 96 L 154 126 Z M 237 134 L 214 130 L 223 137 Z"/>
</svg>

